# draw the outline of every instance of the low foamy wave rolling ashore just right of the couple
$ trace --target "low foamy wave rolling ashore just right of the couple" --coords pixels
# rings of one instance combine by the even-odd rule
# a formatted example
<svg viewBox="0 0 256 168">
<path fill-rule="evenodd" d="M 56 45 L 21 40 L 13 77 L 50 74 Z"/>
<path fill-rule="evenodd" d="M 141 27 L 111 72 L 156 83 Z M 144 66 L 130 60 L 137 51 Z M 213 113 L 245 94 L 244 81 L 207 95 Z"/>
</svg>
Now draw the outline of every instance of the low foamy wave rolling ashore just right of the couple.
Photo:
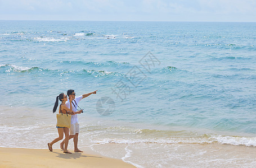
<svg viewBox="0 0 256 168">
<path fill-rule="evenodd" d="M 83 130 L 83 128 L 82 128 Z M 256 137 L 244 136 L 225 136 L 218 134 L 198 134 L 185 130 L 156 130 L 156 129 L 136 129 L 133 127 L 106 127 L 97 126 L 87 127 L 90 134 L 99 136 L 91 139 L 93 143 L 117 143 L 117 144 L 137 144 L 137 143 L 156 143 L 156 144 L 231 144 L 235 146 L 254 146 L 256 147 Z M 108 136 L 104 136 L 105 134 Z M 123 137 L 116 135 L 122 134 Z M 103 137 L 102 137 L 103 136 Z M 101 137 L 101 138 L 100 138 Z M 111 138 L 109 138 L 111 137 Z M 152 138 L 154 137 L 154 138 Z"/>
</svg>

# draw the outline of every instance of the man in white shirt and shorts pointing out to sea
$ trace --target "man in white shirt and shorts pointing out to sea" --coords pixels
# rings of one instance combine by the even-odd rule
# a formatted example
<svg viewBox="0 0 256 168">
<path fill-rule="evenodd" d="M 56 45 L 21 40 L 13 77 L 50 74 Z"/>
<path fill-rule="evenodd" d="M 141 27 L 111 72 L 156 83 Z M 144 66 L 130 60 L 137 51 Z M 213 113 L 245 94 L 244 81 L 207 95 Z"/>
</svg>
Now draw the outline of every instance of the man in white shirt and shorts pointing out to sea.
<svg viewBox="0 0 256 168">
<path fill-rule="evenodd" d="M 77 114 L 80 114 L 82 112 L 82 110 L 78 111 L 78 102 L 86 97 L 88 97 L 91 94 L 96 94 L 98 90 L 91 92 L 89 94 L 84 94 L 82 96 L 79 97 L 75 97 L 75 91 L 74 90 L 68 90 L 67 95 L 69 96 L 69 99 L 73 99 L 71 101 L 71 105 L 72 105 L 72 110 L 77 112 Z M 70 102 L 67 101 L 66 102 L 66 106 L 68 108 L 70 108 Z M 79 123 L 78 123 L 78 117 L 77 114 L 74 114 L 71 116 L 71 127 L 69 129 L 70 134 L 69 134 L 69 139 L 74 138 L 74 151 L 75 152 L 83 152 L 80 151 L 77 147 L 77 143 L 78 143 L 78 134 L 79 134 Z M 64 149 L 64 141 L 62 141 L 60 143 L 60 148 L 63 150 Z"/>
</svg>

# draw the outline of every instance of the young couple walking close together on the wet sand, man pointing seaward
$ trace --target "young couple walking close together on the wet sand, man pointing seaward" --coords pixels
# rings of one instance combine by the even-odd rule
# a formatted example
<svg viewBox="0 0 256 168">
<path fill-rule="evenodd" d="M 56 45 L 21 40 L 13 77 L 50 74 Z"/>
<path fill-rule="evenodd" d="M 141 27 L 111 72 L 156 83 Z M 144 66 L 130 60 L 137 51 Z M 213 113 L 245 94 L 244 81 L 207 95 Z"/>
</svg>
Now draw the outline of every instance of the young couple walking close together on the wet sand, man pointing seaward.
<svg viewBox="0 0 256 168">
<path fill-rule="evenodd" d="M 60 94 L 59 96 L 56 97 L 56 102 L 53 107 L 53 113 L 55 113 L 57 106 L 59 105 L 59 100 L 61 101 L 61 105 L 59 108 L 59 113 L 63 114 L 71 114 L 71 127 L 70 129 L 68 127 L 56 127 L 58 129 L 59 137 L 55 138 L 52 142 L 48 143 L 48 148 L 50 151 L 52 151 L 52 145 L 61 139 L 63 139 L 63 134 L 65 133 L 65 139 L 60 143 L 60 148 L 61 150 L 64 150 L 64 153 L 71 153 L 68 151 L 68 143 L 69 139 L 74 138 L 74 151 L 75 152 L 83 152 L 80 151 L 77 147 L 78 143 L 78 134 L 79 134 L 79 123 L 78 123 L 78 117 L 77 114 L 82 113 L 81 110 L 77 110 L 79 108 L 78 102 L 85 97 L 88 97 L 91 94 L 96 94 L 98 90 L 91 92 L 89 94 L 84 94 L 79 97 L 75 97 L 75 91 L 74 90 L 68 90 L 67 95 L 65 94 Z M 68 99 L 69 97 L 69 99 Z M 59 100 L 58 100 L 59 99 Z M 71 106 L 70 106 L 71 105 Z M 70 134 L 69 134 L 70 132 Z M 65 146 L 64 146 L 65 144 Z"/>
</svg>

